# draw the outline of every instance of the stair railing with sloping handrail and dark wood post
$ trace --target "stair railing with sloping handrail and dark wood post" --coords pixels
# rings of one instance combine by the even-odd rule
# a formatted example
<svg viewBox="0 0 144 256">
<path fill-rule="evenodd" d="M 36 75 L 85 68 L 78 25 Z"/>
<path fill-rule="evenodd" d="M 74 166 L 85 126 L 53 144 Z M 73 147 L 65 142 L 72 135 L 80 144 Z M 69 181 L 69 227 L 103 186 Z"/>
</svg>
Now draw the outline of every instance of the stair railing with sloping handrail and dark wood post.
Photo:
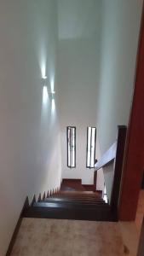
<svg viewBox="0 0 144 256">
<path fill-rule="evenodd" d="M 94 183 L 97 171 L 105 166 L 114 164 L 112 195 L 110 205 L 112 210 L 118 210 L 118 200 L 120 195 L 120 185 L 122 180 L 122 170 L 124 162 L 124 148 L 127 128 L 124 125 L 118 125 L 118 138 L 115 143 L 102 155 L 101 159 L 95 164 Z M 96 187 L 95 187 L 96 189 Z"/>
</svg>

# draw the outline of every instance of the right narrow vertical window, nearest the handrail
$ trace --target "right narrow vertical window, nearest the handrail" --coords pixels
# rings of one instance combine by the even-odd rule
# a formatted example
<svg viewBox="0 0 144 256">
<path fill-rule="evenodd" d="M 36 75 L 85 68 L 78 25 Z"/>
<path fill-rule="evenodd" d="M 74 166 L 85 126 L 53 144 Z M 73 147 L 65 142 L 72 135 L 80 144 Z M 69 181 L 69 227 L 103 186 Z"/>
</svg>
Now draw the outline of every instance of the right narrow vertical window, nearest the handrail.
<svg viewBox="0 0 144 256">
<path fill-rule="evenodd" d="M 95 167 L 95 142 L 96 142 L 96 128 L 87 128 L 87 168 Z"/>
</svg>

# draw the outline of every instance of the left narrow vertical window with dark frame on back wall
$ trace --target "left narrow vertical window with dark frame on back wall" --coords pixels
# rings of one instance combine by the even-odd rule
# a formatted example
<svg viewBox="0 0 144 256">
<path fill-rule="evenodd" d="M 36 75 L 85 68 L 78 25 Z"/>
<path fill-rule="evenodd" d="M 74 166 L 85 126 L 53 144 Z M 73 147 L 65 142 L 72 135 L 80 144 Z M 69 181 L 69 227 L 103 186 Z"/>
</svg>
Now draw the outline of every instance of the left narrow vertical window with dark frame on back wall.
<svg viewBox="0 0 144 256">
<path fill-rule="evenodd" d="M 67 127 L 67 166 L 76 167 L 76 127 Z"/>
</svg>

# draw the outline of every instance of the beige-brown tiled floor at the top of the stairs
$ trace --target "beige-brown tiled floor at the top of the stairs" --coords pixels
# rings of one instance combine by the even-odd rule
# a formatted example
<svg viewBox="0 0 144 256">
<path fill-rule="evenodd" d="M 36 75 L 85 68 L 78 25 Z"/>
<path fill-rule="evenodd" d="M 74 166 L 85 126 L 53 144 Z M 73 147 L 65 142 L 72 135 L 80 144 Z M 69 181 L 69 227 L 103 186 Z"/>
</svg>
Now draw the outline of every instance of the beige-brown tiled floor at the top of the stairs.
<svg viewBox="0 0 144 256">
<path fill-rule="evenodd" d="M 135 223 L 24 218 L 11 256 L 136 256 L 143 214 L 144 191 Z"/>
</svg>

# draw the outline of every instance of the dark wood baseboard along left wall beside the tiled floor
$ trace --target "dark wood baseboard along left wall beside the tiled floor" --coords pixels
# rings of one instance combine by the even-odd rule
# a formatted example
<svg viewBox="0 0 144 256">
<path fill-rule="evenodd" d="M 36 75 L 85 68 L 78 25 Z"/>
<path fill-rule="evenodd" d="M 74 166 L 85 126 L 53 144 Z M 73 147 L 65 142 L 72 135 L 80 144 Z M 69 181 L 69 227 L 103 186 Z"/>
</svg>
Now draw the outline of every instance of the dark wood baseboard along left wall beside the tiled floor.
<svg viewBox="0 0 144 256">
<path fill-rule="evenodd" d="M 13 247 L 14 247 L 14 242 L 15 242 L 16 237 L 18 235 L 18 232 L 20 230 L 20 224 L 21 224 L 21 221 L 22 221 L 23 212 L 28 207 L 29 207 L 29 201 L 28 201 L 28 197 L 26 197 L 26 201 L 24 203 L 24 206 L 22 207 L 22 211 L 20 212 L 20 217 L 19 217 L 19 219 L 17 221 L 17 224 L 16 224 L 16 226 L 14 228 L 14 233 L 13 233 L 11 241 L 9 243 L 9 248 L 8 248 L 7 253 L 6 253 L 6 256 L 10 256 L 10 254 L 12 253 L 12 250 L 13 250 Z"/>
</svg>

